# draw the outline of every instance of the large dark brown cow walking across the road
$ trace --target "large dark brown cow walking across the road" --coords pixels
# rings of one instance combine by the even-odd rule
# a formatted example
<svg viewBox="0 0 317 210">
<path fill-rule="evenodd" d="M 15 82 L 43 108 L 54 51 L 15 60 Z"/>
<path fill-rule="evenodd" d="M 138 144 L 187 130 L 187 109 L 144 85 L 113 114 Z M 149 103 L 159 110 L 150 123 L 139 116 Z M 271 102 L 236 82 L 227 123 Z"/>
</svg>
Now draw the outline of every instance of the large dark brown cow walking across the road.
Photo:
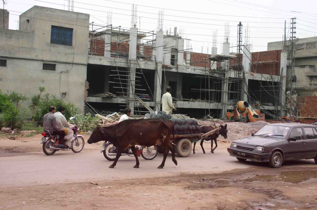
<svg viewBox="0 0 317 210">
<path fill-rule="evenodd" d="M 115 161 L 109 168 L 116 166 L 122 151 L 131 147 L 134 154 L 136 165 L 134 168 L 139 168 L 139 159 L 135 145 L 152 146 L 161 145 L 164 150 L 164 158 L 159 169 L 162 169 L 169 149 L 172 153 L 172 160 L 177 165 L 175 159 L 174 147 L 170 142 L 171 133 L 173 133 L 174 125 L 167 119 L 141 119 L 141 120 L 124 120 L 117 124 L 100 127 L 94 129 L 93 133 L 87 140 L 88 144 L 98 141 L 110 141 L 115 147 L 119 148 Z M 174 137 L 173 137 L 174 138 Z"/>
</svg>

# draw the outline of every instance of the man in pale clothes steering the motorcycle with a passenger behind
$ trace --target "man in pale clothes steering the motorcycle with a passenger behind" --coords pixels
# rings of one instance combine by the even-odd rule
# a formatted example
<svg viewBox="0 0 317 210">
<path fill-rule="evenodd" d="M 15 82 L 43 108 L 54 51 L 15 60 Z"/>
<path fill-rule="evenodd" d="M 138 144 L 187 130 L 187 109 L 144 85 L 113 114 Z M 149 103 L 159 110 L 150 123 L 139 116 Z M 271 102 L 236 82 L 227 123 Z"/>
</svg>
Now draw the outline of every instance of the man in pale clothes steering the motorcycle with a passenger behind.
<svg viewBox="0 0 317 210">
<path fill-rule="evenodd" d="M 74 132 L 69 128 L 77 127 L 76 125 L 69 124 L 63 115 L 65 113 L 65 107 L 58 107 L 58 112 L 54 114 L 56 123 L 54 128 L 57 132 L 65 132 L 64 140 L 61 143 L 65 142 L 65 145 L 69 146 L 68 142 L 72 139 Z M 64 126 L 64 127 L 63 127 Z M 66 127 L 66 128 L 65 128 Z M 60 140 L 61 141 L 61 140 Z"/>
</svg>

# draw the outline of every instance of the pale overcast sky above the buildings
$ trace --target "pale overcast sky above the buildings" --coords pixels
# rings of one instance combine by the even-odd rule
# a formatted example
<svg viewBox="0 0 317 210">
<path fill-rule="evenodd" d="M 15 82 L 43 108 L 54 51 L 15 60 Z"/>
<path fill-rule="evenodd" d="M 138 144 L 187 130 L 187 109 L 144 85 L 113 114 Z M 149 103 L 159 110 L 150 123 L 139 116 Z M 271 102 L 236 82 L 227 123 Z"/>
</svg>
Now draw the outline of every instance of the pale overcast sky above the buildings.
<svg viewBox="0 0 317 210">
<path fill-rule="evenodd" d="M 34 5 L 55 9 L 68 9 L 67 0 L 5 0 L 9 10 L 9 29 L 18 28 L 19 16 Z M 196 0 L 196 1 L 137 1 L 137 0 L 74 0 L 74 12 L 90 14 L 90 22 L 106 25 L 107 13 L 112 12 L 112 25 L 124 29 L 131 27 L 132 4 L 137 5 L 137 28 L 144 32 L 157 30 L 158 12 L 164 10 L 163 28 L 173 33 L 177 27 L 182 37 L 190 39 L 193 52 L 210 53 L 217 30 L 218 54 L 222 52 L 225 24 L 230 25 L 230 52 L 236 52 L 237 25 L 243 24 L 243 44 L 247 26 L 253 52 L 266 51 L 267 43 L 289 37 L 290 18 L 296 17 L 296 37 L 317 35 L 317 1 L 295 0 Z M 62 20 L 60 20 L 62 22 Z M 88 40 L 87 40 L 88 41 Z M 186 48 L 186 40 L 184 44 Z"/>
</svg>

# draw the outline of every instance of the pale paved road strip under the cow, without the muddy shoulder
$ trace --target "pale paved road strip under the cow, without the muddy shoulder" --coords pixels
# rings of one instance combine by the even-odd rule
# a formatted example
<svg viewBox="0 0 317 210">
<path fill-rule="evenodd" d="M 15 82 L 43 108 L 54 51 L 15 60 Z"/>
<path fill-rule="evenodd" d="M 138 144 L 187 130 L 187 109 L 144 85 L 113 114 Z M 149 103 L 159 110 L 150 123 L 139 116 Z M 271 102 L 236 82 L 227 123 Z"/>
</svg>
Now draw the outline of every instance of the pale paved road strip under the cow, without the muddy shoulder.
<svg viewBox="0 0 317 210">
<path fill-rule="evenodd" d="M 38 184 L 64 182 L 109 181 L 117 179 L 145 178 L 155 176 L 173 176 L 179 173 L 215 173 L 248 167 L 267 167 L 266 164 L 247 161 L 240 163 L 230 157 L 226 151 L 228 145 L 222 145 L 214 154 L 203 154 L 198 148 L 196 154 L 187 158 L 176 157 L 178 165 L 166 159 L 164 169 L 157 169 L 163 155 L 153 160 L 140 160 L 140 168 L 134 169 L 134 157 L 121 157 L 114 169 L 112 162 L 106 160 L 99 150 L 83 150 L 80 153 L 56 152 L 53 156 L 43 153 L 0 157 L 0 186 L 23 187 Z M 208 151 L 208 150 L 206 150 Z M 283 167 L 312 166 L 313 160 L 301 160 L 285 164 Z M 269 169 L 273 170 L 273 169 Z"/>
</svg>

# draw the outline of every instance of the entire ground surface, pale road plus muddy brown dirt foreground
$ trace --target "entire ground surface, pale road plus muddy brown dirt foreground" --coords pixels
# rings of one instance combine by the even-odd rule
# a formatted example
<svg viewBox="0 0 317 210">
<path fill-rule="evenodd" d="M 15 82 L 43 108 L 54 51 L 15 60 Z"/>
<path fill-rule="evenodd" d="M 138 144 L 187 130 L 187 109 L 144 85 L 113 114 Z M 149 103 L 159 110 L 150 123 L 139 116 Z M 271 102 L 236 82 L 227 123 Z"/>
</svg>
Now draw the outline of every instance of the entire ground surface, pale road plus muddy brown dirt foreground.
<svg viewBox="0 0 317 210">
<path fill-rule="evenodd" d="M 85 139 L 87 140 L 87 136 Z M 0 137 L 0 208 L 3 209 L 316 209 L 317 168 L 313 160 L 287 162 L 281 169 L 228 155 L 171 156 L 163 170 L 154 160 L 121 157 L 116 168 L 100 153 L 102 142 L 82 152 L 46 156 L 40 136 Z M 204 143 L 210 151 L 210 143 Z M 158 178 L 154 178 L 158 177 Z M 96 182 L 93 185 L 89 182 Z M 291 183 L 298 182 L 298 183 Z"/>
</svg>

